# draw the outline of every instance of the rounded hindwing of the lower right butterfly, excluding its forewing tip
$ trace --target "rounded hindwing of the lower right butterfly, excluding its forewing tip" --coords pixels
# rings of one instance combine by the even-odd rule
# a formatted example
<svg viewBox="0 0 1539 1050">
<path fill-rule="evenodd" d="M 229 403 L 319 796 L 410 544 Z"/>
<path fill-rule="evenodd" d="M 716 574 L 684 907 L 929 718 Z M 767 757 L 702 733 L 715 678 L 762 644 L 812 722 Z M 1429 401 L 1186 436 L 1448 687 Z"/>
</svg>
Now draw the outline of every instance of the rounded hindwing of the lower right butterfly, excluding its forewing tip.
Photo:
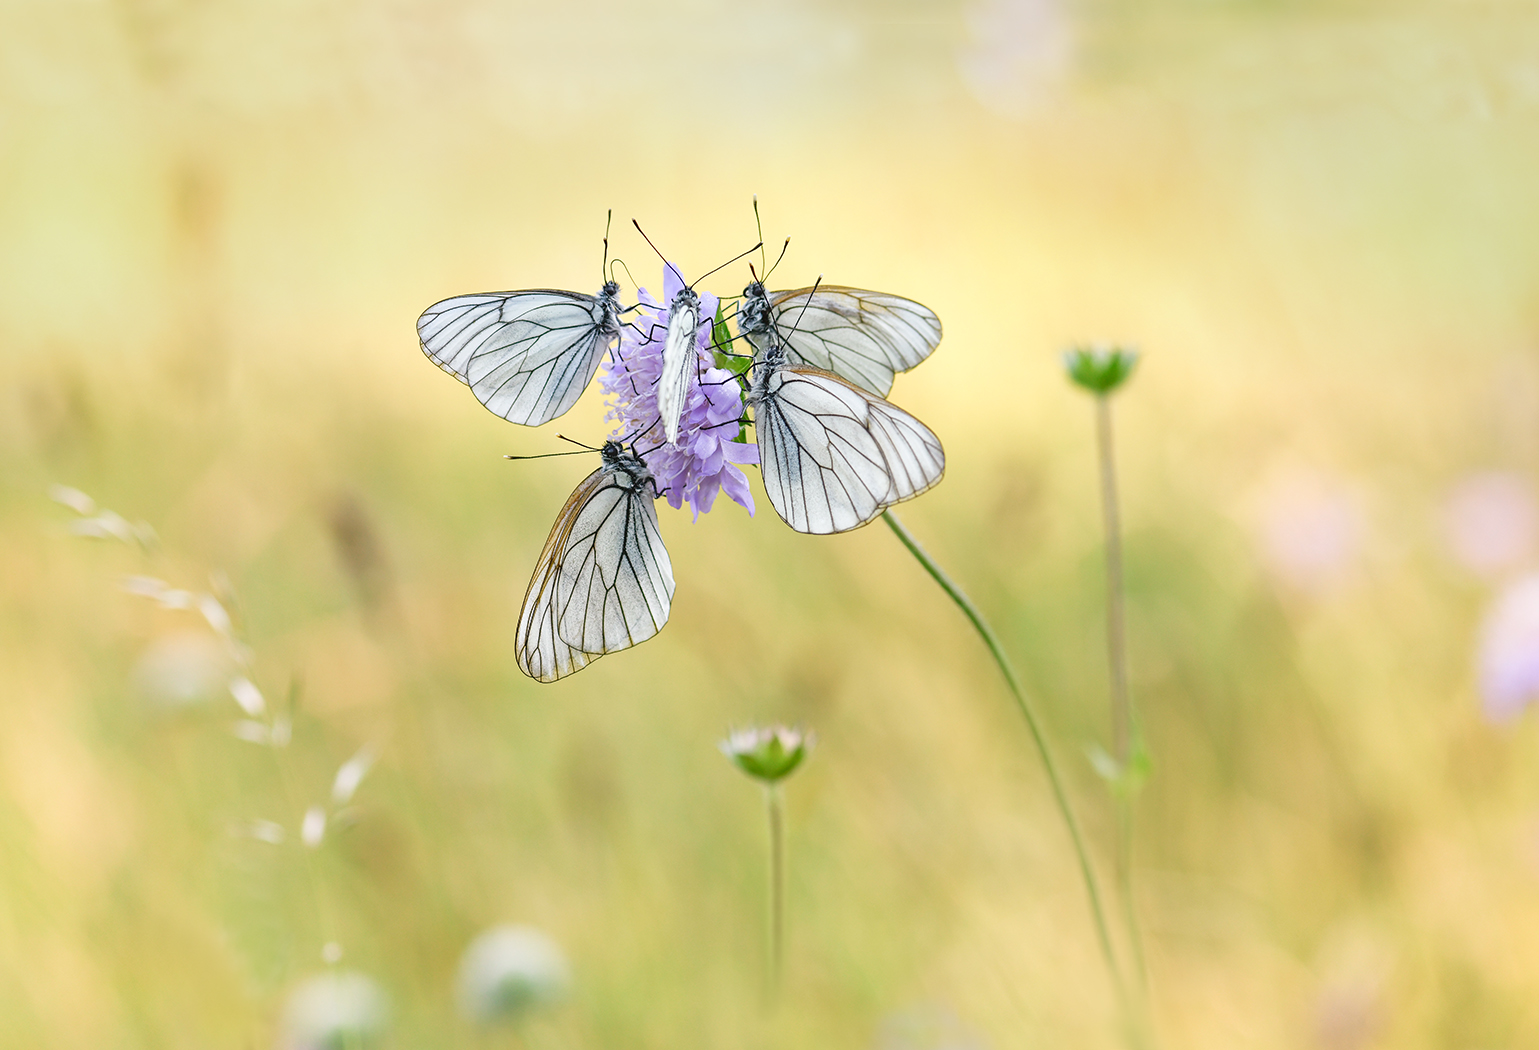
<svg viewBox="0 0 1539 1050">
<path fill-rule="evenodd" d="M 859 528 L 906 499 L 894 496 L 870 397 L 839 376 L 770 370 L 756 385 L 754 440 L 765 493 L 799 533 Z"/>
</svg>

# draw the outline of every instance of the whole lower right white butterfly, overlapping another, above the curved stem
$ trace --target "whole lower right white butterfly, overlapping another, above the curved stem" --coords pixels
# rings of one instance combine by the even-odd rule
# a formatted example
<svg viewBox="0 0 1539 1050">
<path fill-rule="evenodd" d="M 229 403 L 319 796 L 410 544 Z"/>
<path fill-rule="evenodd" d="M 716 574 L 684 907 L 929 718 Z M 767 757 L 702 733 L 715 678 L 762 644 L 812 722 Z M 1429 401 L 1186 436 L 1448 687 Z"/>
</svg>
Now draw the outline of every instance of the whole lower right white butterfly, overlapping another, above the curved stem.
<svg viewBox="0 0 1539 1050">
<path fill-rule="evenodd" d="M 902 408 L 770 340 L 748 403 L 765 493 L 799 533 L 843 533 L 913 499 L 946 468 L 940 439 Z"/>
</svg>

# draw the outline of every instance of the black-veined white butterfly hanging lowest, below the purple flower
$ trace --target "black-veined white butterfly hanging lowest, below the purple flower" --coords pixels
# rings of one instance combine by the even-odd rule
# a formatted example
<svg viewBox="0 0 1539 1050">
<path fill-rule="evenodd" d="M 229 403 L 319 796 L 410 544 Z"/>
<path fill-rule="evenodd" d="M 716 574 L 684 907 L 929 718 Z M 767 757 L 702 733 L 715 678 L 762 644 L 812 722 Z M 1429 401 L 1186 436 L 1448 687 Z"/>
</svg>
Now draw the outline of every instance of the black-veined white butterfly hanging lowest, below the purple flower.
<svg viewBox="0 0 1539 1050">
<path fill-rule="evenodd" d="M 603 463 L 562 507 L 519 613 L 519 668 L 540 682 L 645 642 L 668 622 L 673 562 L 657 531 L 657 482 L 634 451 Z"/>
</svg>

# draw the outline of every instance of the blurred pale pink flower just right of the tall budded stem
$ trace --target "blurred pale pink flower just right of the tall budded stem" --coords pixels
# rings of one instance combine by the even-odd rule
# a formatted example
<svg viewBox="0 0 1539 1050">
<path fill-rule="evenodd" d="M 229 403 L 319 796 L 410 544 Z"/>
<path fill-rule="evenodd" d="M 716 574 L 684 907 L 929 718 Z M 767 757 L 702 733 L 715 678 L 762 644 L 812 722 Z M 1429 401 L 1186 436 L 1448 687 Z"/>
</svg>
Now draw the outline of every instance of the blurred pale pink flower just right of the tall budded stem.
<svg viewBox="0 0 1539 1050">
<path fill-rule="evenodd" d="M 1276 476 L 1264 485 L 1257 511 L 1267 568 L 1297 590 L 1331 590 L 1362 553 L 1360 496 L 1340 479 L 1311 471 Z"/>
</svg>

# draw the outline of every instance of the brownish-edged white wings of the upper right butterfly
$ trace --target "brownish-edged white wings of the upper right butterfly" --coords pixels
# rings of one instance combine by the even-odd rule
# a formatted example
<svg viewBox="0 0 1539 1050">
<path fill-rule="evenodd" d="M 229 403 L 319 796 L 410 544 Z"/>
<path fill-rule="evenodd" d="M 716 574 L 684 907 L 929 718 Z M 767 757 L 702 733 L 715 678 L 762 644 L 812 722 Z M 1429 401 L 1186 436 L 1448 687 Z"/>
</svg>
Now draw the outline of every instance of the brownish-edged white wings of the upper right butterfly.
<svg viewBox="0 0 1539 1050">
<path fill-rule="evenodd" d="M 893 390 L 940 345 L 940 319 L 902 296 L 817 285 L 770 293 L 770 317 L 788 360 L 834 373 L 873 394 Z"/>
</svg>

